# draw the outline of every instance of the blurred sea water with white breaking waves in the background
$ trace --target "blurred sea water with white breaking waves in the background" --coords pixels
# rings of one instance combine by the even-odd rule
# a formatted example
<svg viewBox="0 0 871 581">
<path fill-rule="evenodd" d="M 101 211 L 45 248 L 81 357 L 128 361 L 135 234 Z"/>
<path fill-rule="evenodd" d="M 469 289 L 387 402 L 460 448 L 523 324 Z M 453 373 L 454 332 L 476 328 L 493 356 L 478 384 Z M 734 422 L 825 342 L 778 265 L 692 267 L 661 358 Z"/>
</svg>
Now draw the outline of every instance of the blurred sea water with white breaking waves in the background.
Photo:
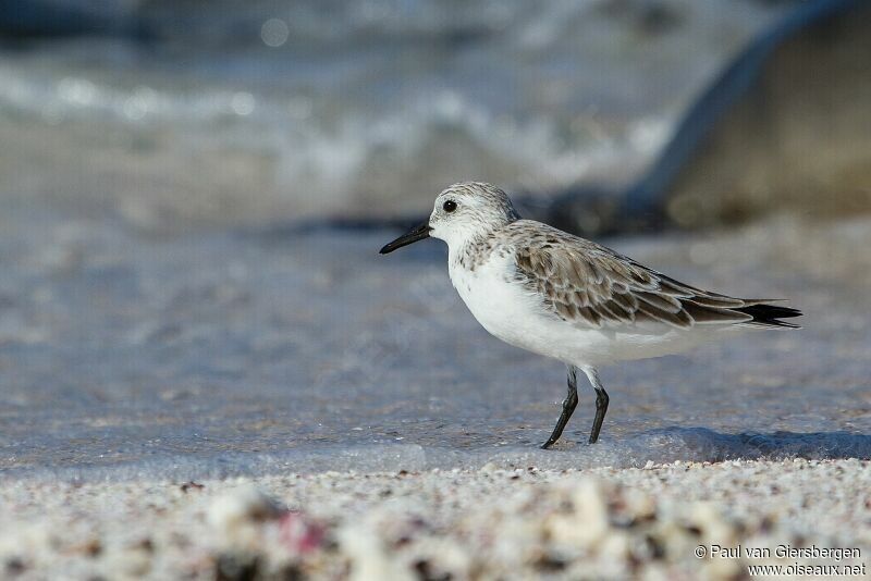
<svg viewBox="0 0 871 581">
<path fill-rule="evenodd" d="M 625 183 L 788 5 L 44 3 L 112 17 L 8 35 L 0 191 L 152 231 L 405 218 L 466 178 Z"/>
</svg>

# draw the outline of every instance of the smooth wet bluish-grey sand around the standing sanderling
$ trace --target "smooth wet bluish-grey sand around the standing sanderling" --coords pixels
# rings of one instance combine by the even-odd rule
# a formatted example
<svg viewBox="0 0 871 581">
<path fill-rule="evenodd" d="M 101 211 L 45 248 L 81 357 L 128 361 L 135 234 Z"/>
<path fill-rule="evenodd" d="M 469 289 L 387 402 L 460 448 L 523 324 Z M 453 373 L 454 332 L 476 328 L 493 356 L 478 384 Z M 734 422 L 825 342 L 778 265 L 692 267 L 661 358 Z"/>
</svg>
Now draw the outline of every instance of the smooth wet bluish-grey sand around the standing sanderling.
<svg viewBox="0 0 871 581">
<path fill-rule="evenodd" d="M 603 369 L 600 444 L 582 443 L 585 386 L 560 454 L 538 445 L 564 367 L 489 336 L 437 240 L 380 257 L 394 232 L 156 239 L 45 211 L 0 223 L 10 478 L 871 457 L 867 219 L 605 240 L 690 284 L 788 297 L 805 329 Z"/>
</svg>

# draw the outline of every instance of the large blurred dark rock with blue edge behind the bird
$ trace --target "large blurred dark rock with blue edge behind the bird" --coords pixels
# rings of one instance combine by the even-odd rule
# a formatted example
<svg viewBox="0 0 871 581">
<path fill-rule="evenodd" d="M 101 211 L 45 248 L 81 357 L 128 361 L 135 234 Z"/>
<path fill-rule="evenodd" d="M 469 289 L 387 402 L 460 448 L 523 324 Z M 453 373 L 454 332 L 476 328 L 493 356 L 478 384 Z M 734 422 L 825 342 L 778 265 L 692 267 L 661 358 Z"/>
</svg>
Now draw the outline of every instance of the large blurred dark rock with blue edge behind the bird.
<svg viewBox="0 0 871 581">
<path fill-rule="evenodd" d="M 544 218 L 596 234 L 871 210 L 869 29 L 869 2 L 800 5 L 726 66 L 634 186 L 573 188 Z"/>
</svg>

